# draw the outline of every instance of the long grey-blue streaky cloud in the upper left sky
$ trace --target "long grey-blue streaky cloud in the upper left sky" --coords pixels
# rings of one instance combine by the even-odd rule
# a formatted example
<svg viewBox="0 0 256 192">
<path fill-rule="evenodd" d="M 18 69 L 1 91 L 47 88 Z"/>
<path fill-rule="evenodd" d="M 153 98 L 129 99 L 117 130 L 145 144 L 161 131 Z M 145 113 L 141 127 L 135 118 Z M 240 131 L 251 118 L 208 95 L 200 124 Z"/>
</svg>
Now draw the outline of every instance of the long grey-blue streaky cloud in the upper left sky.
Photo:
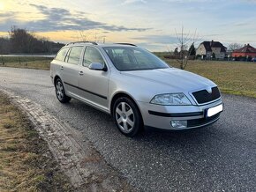
<svg viewBox="0 0 256 192">
<path fill-rule="evenodd" d="M 106 31 L 138 31 L 143 32 L 149 28 L 136 28 L 126 26 L 109 25 L 103 22 L 98 22 L 87 18 L 86 12 L 72 13 L 62 8 L 49 8 L 44 5 L 29 4 L 36 8 L 44 16 L 43 19 L 33 21 L 19 21 L 15 14 L 5 14 L 6 18 L 4 25 L 1 25 L 2 30 L 10 29 L 10 24 L 28 28 L 36 32 L 49 32 L 49 31 L 66 31 L 66 30 L 90 30 L 90 29 L 103 29 Z M 12 16 L 12 17 L 10 17 Z M 13 17 L 14 16 L 14 17 Z M 0 30 L 1 30 L 0 28 Z M 2 31 L 1 30 L 1 31 Z"/>
</svg>

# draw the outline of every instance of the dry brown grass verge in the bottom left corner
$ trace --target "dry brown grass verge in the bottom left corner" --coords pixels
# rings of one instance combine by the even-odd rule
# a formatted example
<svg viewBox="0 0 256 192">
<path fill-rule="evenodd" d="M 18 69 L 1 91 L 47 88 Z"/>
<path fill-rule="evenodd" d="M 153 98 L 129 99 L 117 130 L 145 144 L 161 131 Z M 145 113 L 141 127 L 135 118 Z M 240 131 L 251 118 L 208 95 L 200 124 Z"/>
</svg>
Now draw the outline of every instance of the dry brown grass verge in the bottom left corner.
<svg viewBox="0 0 256 192">
<path fill-rule="evenodd" d="M 71 191 L 47 144 L 0 93 L 0 191 Z"/>
</svg>

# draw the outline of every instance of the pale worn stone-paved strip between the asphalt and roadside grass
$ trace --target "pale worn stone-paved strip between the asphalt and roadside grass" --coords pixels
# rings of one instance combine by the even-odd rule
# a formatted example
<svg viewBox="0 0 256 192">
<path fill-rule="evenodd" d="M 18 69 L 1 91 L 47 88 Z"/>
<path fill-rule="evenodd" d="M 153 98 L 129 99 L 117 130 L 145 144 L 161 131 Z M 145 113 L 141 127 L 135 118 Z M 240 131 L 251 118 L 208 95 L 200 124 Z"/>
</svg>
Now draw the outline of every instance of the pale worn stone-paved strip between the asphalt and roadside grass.
<svg viewBox="0 0 256 192">
<path fill-rule="evenodd" d="M 12 92 L 4 93 L 33 122 L 75 191 L 136 191 L 78 131 L 59 122 L 33 101 Z"/>
</svg>

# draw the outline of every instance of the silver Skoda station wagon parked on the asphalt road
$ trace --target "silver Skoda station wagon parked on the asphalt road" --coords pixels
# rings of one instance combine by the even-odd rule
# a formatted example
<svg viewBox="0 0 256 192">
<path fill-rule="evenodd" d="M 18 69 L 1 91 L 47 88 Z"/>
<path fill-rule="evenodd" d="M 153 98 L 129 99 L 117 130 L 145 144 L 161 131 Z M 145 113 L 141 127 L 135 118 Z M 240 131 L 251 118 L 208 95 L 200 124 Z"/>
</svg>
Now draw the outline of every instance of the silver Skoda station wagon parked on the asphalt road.
<svg viewBox="0 0 256 192">
<path fill-rule="evenodd" d="M 113 116 L 128 137 L 144 127 L 192 129 L 216 122 L 223 110 L 215 83 L 170 67 L 128 43 L 72 42 L 50 64 L 56 98 L 81 100 Z"/>
</svg>

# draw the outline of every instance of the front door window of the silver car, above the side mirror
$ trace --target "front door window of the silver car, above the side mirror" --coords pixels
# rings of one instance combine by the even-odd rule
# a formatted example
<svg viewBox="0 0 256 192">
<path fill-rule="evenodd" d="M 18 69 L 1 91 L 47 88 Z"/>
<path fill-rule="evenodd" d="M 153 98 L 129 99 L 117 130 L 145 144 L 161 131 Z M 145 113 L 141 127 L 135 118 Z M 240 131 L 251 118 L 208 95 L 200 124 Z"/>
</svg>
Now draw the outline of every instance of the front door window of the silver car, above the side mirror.
<svg viewBox="0 0 256 192">
<path fill-rule="evenodd" d="M 83 65 L 88 67 L 91 63 L 104 64 L 105 62 L 102 58 L 102 55 L 96 48 L 87 47 L 85 55 L 84 55 Z"/>
</svg>

